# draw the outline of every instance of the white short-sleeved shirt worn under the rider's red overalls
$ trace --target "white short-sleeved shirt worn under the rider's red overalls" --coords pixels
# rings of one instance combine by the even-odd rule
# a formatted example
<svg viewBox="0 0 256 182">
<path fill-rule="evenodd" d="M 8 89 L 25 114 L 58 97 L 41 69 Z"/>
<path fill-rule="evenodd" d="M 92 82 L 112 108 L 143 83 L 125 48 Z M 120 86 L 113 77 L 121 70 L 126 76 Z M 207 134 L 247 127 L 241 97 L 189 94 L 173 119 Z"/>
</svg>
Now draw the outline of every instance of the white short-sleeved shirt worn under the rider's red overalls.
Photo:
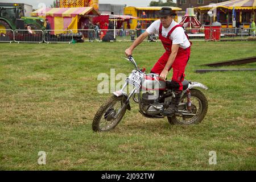
<svg viewBox="0 0 256 182">
<path fill-rule="evenodd" d="M 146 30 L 148 34 L 159 35 L 160 23 L 161 23 L 160 19 L 153 22 Z M 171 29 L 175 27 L 177 24 L 179 23 L 175 22 L 175 20 L 172 20 L 172 23 L 168 28 L 164 28 L 162 26 L 162 36 L 166 38 L 168 33 L 171 31 Z M 175 30 L 170 35 L 170 39 L 172 40 L 172 44 L 180 44 L 181 48 L 185 49 L 191 46 L 187 36 L 185 35 L 184 29 L 182 27 L 175 28 Z"/>
</svg>

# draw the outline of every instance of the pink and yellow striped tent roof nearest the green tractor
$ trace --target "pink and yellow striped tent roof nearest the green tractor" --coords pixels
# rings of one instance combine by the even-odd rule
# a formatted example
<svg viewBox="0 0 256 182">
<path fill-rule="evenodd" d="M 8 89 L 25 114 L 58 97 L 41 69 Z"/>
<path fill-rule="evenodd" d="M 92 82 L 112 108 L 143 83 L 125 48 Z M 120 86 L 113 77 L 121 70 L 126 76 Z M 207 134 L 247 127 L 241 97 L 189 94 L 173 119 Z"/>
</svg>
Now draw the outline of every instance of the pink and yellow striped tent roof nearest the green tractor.
<svg viewBox="0 0 256 182">
<path fill-rule="evenodd" d="M 93 7 L 44 8 L 31 13 L 31 16 L 74 17 L 77 15 L 100 15 Z"/>
</svg>

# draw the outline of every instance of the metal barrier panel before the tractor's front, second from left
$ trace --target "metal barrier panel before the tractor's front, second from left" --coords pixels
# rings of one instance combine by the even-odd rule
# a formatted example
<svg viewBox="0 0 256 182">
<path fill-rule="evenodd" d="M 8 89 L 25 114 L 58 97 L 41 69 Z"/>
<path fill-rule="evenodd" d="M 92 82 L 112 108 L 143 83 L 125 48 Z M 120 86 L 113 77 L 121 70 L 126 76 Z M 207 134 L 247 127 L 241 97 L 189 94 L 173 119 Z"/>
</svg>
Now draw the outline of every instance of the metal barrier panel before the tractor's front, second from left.
<svg viewBox="0 0 256 182">
<path fill-rule="evenodd" d="M 16 43 L 43 43 L 42 30 L 14 30 L 14 42 Z"/>
</svg>

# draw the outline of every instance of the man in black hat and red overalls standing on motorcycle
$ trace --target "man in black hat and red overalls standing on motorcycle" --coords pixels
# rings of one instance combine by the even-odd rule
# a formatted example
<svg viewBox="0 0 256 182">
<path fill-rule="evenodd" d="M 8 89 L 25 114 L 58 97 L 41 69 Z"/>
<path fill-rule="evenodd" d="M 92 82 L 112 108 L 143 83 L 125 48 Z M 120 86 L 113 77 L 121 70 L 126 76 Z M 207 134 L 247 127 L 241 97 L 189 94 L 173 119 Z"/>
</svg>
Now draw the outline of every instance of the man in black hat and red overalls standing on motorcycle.
<svg viewBox="0 0 256 182">
<path fill-rule="evenodd" d="M 165 109 L 163 115 L 172 115 L 178 111 L 178 105 L 181 98 L 184 80 L 184 72 L 190 57 L 191 42 L 188 40 L 183 27 L 172 19 L 176 15 L 169 7 L 163 7 L 158 16 L 160 20 L 156 20 L 147 28 L 147 30 L 139 36 L 135 42 L 126 49 L 126 56 L 131 56 L 133 49 L 143 42 L 151 34 L 158 34 L 164 49 L 163 56 L 156 62 L 151 69 L 151 73 L 160 75 L 160 79 L 166 80 L 168 72 L 173 69 L 172 80 L 168 84 L 168 88 L 174 90 L 175 97 L 172 98 L 170 106 Z"/>
</svg>

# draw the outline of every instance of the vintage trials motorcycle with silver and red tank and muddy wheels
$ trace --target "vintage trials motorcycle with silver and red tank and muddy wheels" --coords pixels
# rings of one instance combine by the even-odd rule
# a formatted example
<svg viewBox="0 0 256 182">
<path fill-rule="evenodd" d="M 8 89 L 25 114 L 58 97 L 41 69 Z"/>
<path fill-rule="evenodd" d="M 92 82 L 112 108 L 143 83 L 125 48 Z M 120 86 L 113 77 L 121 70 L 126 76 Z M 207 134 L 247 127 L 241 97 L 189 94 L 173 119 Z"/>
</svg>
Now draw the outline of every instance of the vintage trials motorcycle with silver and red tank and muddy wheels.
<svg viewBox="0 0 256 182">
<path fill-rule="evenodd" d="M 123 118 L 126 110 L 131 110 L 130 99 L 139 104 L 139 112 L 148 118 L 164 118 L 162 111 L 170 105 L 172 97 L 175 97 L 173 90 L 169 87 L 171 81 L 163 81 L 154 73 L 146 73 L 145 69 L 139 69 L 134 58 L 128 59 L 135 69 L 126 78 L 121 90 L 113 95 L 100 106 L 92 122 L 93 131 L 109 131 Z M 133 85 L 132 92 L 127 95 L 124 92 L 128 84 Z M 179 103 L 177 113 L 168 116 L 171 125 L 191 125 L 200 123 L 207 114 L 208 101 L 203 92 L 196 88 L 207 90 L 207 86 L 199 82 L 184 80 L 183 95 Z"/>
</svg>

